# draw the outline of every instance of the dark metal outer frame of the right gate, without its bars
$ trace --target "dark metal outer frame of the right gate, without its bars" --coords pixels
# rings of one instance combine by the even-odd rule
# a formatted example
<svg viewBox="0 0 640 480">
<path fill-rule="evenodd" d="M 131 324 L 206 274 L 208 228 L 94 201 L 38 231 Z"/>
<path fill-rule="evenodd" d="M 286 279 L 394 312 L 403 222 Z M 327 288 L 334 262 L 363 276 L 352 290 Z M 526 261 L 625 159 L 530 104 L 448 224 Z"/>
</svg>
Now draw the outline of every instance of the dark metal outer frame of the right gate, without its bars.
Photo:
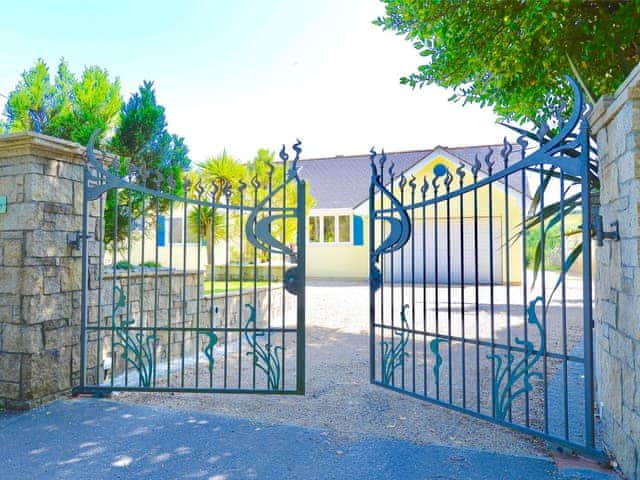
<svg viewBox="0 0 640 480">
<path fill-rule="evenodd" d="M 370 383 L 381 386 L 383 388 L 387 388 L 404 395 L 408 395 L 414 398 L 418 398 L 420 400 L 428 401 L 430 403 L 434 403 L 445 408 L 449 408 L 454 411 L 458 411 L 461 413 L 466 413 L 476 418 L 480 418 L 483 420 L 490 421 L 492 423 L 496 423 L 516 431 L 531 434 L 537 437 L 541 437 L 549 442 L 557 444 L 560 447 L 567 448 L 570 451 L 576 451 L 581 454 L 585 454 L 591 458 L 597 459 L 599 461 L 607 461 L 607 456 L 601 449 L 596 447 L 596 434 L 595 434 L 595 413 L 596 406 L 594 402 L 594 390 L 595 390 L 595 379 L 594 379 L 594 358 L 593 358 L 593 329 L 594 322 L 592 317 L 593 310 L 593 301 L 592 301 L 592 269 L 591 269 L 591 240 L 592 240 L 592 232 L 597 241 L 601 242 L 602 238 L 608 238 L 607 235 L 612 235 L 611 233 L 602 231 L 602 222 L 597 221 L 597 217 L 594 219 L 592 223 L 592 197 L 591 197 L 591 185 L 589 180 L 589 167 L 590 167 L 590 136 L 589 136 L 589 124 L 586 119 L 587 111 L 585 108 L 585 102 L 582 93 L 577 85 L 577 83 L 570 77 L 566 77 L 567 82 L 569 83 L 572 91 L 573 91 L 573 110 L 570 118 L 565 122 L 560 124 L 559 132 L 554 135 L 550 140 L 543 142 L 544 135 L 546 131 L 544 128 L 546 127 L 546 123 L 543 123 L 541 127 L 541 136 L 539 137 L 539 148 L 537 148 L 533 153 L 529 155 L 524 155 L 524 147 L 523 147 L 523 156 L 520 161 L 517 161 L 511 165 L 505 166 L 504 169 L 500 170 L 497 173 L 492 173 L 489 170 L 489 174 L 477 182 L 472 183 L 468 186 L 463 186 L 457 190 L 449 191 L 447 189 L 446 194 L 434 196 L 432 200 L 425 201 L 423 198 L 422 202 L 413 203 L 411 205 L 405 205 L 402 203 L 401 199 L 398 199 L 393 194 L 394 188 L 394 177 L 391 173 L 391 179 L 386 182 L 386 179 L 383 178 L 384 175 L 384 162 L 386 160 L 386 156 L 384 154 L 384 150 L 382 151 L 381 158 L 379 161 L 379 171 L 376 165 L 375 159 L 377 157 L 377 152 L 372 149 L 371 150 L 371 182 L 369 188 L 369 380 Z M 517 127 L 510 127 L 513 130 L 519 132 L 521 134 L 519 140 L 524 138 L 525 131 L 519 129 Z M 577 132 L 574 134 L 574 132 Z M 520 143 L 520 141 L 518 142 Z M 505 139 L 505 146 L 507 145 Z M 579 158 L 572 158 L 564 155 L 566 150 L 570 148 L 579 148 L 580 156 Z M 476 158 L 476 162 L 478 162 Z M 581 185 L 581 201 L 582 201 L 582 262 L 583 262 L 583 271 L 582 271 L 582 299 L 583 299 L 583 308 L 582 308 L 582 327 L 583 327 L 583 346 L 584 346 L 584 400 L 585 400 L 585 408 L 584 408 L 584 435 L 585 435 L 585 444 L 579 444 L 572 442 L 570 440 L 565 440 L 564 438 L 557 437 L 550 433 L 545 433 L 544 431 L 535 430 L 531 427 L 521 426 L 518 424 L 510 423 L 505 420 L 500 420 L 495 418 L 495 403 L 494 403 L 494 394 L 491 393 L 490 399 L 494 407 L 492 408 L 493 415 L 488 415 L 481 413 L 480 411 L 475 411 L 470 408 L 466 408 L 466 404 L 464 406 L 459 406 L 451 403 L 451 399 L 449 402 L 445 402 L 434 397 L 429 396 L 428 393 L 425 392 L 424 395 L 414 393 L 404 389 L 403 387 L 398 387 L 394 384 L 389 384 L 384 382 L 383 372 L 381 371 L 381 378 L 378 380 L 376 378 L 376 347 L 377 347 L 377 337 L 376 337 L 376 329 L 379 328 L 376 326 L 376 292 L 380 289 L 380 287 L 384 284 L 384 278 L 382 276 L 382 271 L 378 267 L 378 264 L 382 266 L 383 258 L 385 254 L 393 254 L 395 251 L 401 250 L 404 245 L 408 242 L 409 238 L 412 235 L 412 225 L 411 219 L 407 214 L 409 209 L 413 210 L 418 207 L 423 207 L 426 205 L 438 205 L 441 202 L 448 201 L 454 197 L 462 197 L 465 193 L 477 191 L 482 186 L 491 185 L 493 182 L 498 181 L 501 178 L 507 177 L 512 173 L 519 172 L 521 170 L 525 170 L 528 167 L 535 165 L 551 165 L 553 167 L 558 168 L 559 171 L 567 174 L 571 174 L 574 176 L 580 177 L 580 185 Z M 391 169 L 393 166 L 391 167 Z M 479 168 L 479 165 L 476 165 L 476 168 Z M 444 174 L 443 174 L 444 175 Z M 446 175 L 450 175 L 448 170 Z M 398 179 L 398 186 L 404 190 L 404 185 L 401 185 L 401 182 L 404 180 L 406 184 L 406 179 L 402 177 L 402 179 Z M 435 180 L 434 180 L 435 181 Z M 415 185 L 414 185 L 415 187 Z M 390 203 L 389 208 L 385 208 L 384 203 L 381 203 L 380 208 L 376 208 L 376 190 L 380 192 L 380 197 L 387 197 L 387 200 Z M 523 195 L 525 193 L 523 192 Z M 375 246 L 375 227 L 376 221 L 384 221 L 387 222 L 388 229 L 385 229 L 384 232 L 388 232 L 388 235 L 385 238 L 380 238 L 379 246 Z M 491 220 L 490 220 L 491 222 Z M 462 227 L 461 227 L 462 228 Z M 381 230 L 383 231 L 383 230 Z M 506 232 L 506 235 L 509 235 L 509 232 Z M 524 240 L 522 240 L 524 241 Z M 426 252 L 423 252 L 425 255 Z M 563 263 L 565 262 L 566 257 L 563 258 Z M 463 261 L 461 259 L 461 261 Z M 523 258 L 523 262 L 525 259 Z M 563 270 L 564 271 L 564 270 Z M 526 272 L 525 272 L 526 273 Z M 392 272 L 393 274 L 393 272 Z M 448 280 L 450 282 L 450 279 Z M 393 285 L 393 282 L 392 282 Z M 393 287 L 392 287 L 393 288 Z M 437 288 L 437 287 L 436 287 Z M 382 294 L 381 294 L 382 295 Z M 392 293 L 393 295 L 393 293 Z M 545 293 L 545 298 L 546 293 Z M 477 301 L 476 298 L 474 298 Z M 426 298 L 423 299 L 426 302 Z M 535 300 L 534 300 L 535 302 Z M 436 306 L 436 308 L 438 308 Z M 543 306 L 546 309 L 546 306 Z M 404 308 L 403 308 L 404 310 Z M 391 312 L 391 315 L 395 315 L 396 312 Z M 527 322 L 525 318 L 525 323 Z M 410 335 L 412 334 L 412 330 L 409 328 L 405 328 L 402 324 L 400 327 L 394 326 L 390 327 L 391 335 L 397 332 L 408 332 Z M 413 333 L 415 335 L 415 333 Z M 448 338 L 451 341 L 452 334 L 450 331 L 447 332 L 446 335 L 439 334 L 436 332 L 436 337 L 434 338 Z M 463 333 L 464 338 L 464 333 Z M 464 342 L 463 342 L 464 343 Z M 494 345 L 492 343 L 492 345 Z M 464 345 L 463 345 L 464 349 Z M 404 347 L 402 347 L 402 355 L 404 355 Z M 546 350 L 542 351 L 542 355 L 544 357 L 547 356 Z M 451 361 L 451 358 L 449 359 Z M 425 359 L 426 361 L 426 359 Z M 568 362 L 568 360 L 565 360 Z M 414 367 L 415 368 L 415 367 Z M 395 369 L 395 367 L 392 367 Z M 479 372 L 476 372 L 476 375 L 480 375 Z M 451 382 L 452 379 L 449 379 Z M 544 380 L 545 385 L 548 382 L 548 379 Z M 393 382 L 392 382 L 393 383 Z M 546 389 L 547 387 L 545 387 Z M 568 388 L 567 385 L 564 387 Z M 480 393 L 482 390 L 480 390 Z M 545 407 L 546 408 L 546 407 Z M 545 415 L 546 415 L 545 410 Z M 568 413 L 565 413 L 568 415 Z M 568 421 L 568 417 L 567 417 Z"/>
</svg>

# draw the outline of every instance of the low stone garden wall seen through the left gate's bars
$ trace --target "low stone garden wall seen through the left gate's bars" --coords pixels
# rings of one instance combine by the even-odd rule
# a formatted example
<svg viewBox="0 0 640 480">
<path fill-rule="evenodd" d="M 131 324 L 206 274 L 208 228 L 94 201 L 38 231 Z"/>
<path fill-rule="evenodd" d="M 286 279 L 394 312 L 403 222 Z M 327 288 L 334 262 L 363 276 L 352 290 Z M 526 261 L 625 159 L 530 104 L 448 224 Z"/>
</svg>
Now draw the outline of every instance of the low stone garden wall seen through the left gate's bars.
<svg viewBox="0 0 640 480">
<path fill-rule="evenodd" d="M 129 327 L 133 334 L 136 327 L 157 328 L 154 330 L 156 361 L 164 363 L 169 355 L 173 360 L 194 352 L 196 333 L 185 331 L 185 328 L 207 328 L 212 324 L 231 328 L 243 326 L 239 324 L 241 314 L 244 323 L 250 313 L 246 304 L 256 308 L 259 325 L 265 323 L 267 312 L 272 318 L 281 318 L 282 287 L 272 287 L 270 296 L 268 287 L 258 287 L 254 295 L 250 285 L 243 288 L 242 297 L 239 291 L 229 292 L 226 298 L 224 293 L 211 296 L 204 291 L 204 275 L 204 272 L 185 274 L 168 269 L 159 269 L 156 275 L 154 268 L 117 271 L 116 286 L 122 289 L 126 300 L 113 316 L 119 293 L 115 291 L 114 301 L 113 272 L 103 274 L 102 281 L 93 285 L 97 289 L 96 295 L 89 301 L 88 324 L 96 328 L 100 319 L 101 329 L 91 331 L 88 336 L 88 384 L 104 382 L 105 370 L 115 372 L 115 375 L 124 371 L 122 351 L 116 348 L 113 352 L 112 348 L 112 321 L 116 325 L 127 320 L 133 322 Z M 290 295 L 285 298 L 287 315 L 295 315 L 295 298 Z M 218 344 L 224 344 L 224 337 L 220 337 Z M 200 349 L 204 347 L 205 342 L 201 342 Z"/>
</svg>

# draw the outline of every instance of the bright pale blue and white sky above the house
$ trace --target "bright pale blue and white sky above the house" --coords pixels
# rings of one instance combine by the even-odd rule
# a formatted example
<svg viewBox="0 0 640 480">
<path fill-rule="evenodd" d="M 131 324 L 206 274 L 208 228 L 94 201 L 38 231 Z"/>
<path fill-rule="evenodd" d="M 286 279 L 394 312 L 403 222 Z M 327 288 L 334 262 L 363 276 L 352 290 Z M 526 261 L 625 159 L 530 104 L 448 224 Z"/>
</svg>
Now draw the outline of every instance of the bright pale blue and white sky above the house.
<svg viewBox="0 0 640 480">
<path fill-rule="evenodd" d="M 37 58 L 52 72 L 61 57 L 76 73 L 107 68 L 125 99 L 153 80 L 196 163 L 296 138 L 306 158 L 500 143 L 508 131 L 490 109 L 400 85 L 424 60 L 372 25 L 383 11 L 378 0 L 0 0 L 0 94 Z"/>
</svg>

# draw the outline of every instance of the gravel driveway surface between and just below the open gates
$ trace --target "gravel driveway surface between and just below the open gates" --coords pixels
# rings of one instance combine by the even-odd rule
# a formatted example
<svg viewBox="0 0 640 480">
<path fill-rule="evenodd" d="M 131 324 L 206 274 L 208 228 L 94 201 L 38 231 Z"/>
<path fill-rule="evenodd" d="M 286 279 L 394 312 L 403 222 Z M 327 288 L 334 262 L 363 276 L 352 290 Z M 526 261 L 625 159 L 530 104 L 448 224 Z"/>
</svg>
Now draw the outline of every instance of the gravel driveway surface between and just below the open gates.
<svg viewBox="0 0 640 480">
<path fill-rule="evenodd" d="M 307 289 L 307 392 L 300 396 L 120 393 L 114 399 L 315 427 L 359 440 L 547 455 L 541 441 L 369 384 L 368 287 L 313 282 Z"/>
</svg>

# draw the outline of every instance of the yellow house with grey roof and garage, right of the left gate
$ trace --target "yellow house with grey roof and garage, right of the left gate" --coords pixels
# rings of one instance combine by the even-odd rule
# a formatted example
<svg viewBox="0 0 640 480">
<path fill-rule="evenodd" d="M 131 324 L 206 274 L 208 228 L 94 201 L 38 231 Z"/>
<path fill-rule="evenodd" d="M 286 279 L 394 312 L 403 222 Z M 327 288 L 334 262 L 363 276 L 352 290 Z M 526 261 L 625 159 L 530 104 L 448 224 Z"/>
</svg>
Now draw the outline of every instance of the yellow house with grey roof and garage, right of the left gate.
<svg viewBox="0 0 640 480">
<path fill-rule="evenodd" d="M 404 189 L 400 188 L 400 178 L 403 175 L 407 180 L 415 178 L 416 201 L 422 199 L 420 187 L 423 179 L 426 179 L 429 189 L 425 198 L 430 199 L 433 198 L 432 181 L 436 176 L 434 169 L 442 173 L 444 167 L 453 175 L 450 190 L 455 191 L 473 183 L 471 169 L 476 155 L 482 161 L 492 149 L 494 155 L 491 159 L 495 161 L 493 173 L 504 168 L 499 155 L 502 147 L 436 147 L 387 153 L 385 169 L 393 165 L 395 181 L 389 185 L 387 173 L 385 184 L 397 198 L 404 195 L 402 203 L 408 205 L 412 203 L 411 190 L 408 184 Z M 514 146 L 512 162 L 516 161 L 516 157 L 519 158 L 518 149 L 519 146 Z M 462 178 L 456 174 L 461 165 L 465 171 Z M 300 166 L 300 176 L 308 182 L 316 200 L 307 219 L 307 275 L 310 278 L 367 278 L 371 178 L 369 156 L 307 159 L 302 160 Z M 477 175 L 478 180 L 488 175 L 484 162 Z M 443 181 L 444 177 L 438 180 L 440 195 L 445 189 Z M 411 271 L 416 282 L 432 283 L 436 280 L 436 271 L 439 282 L 446 281 L 450 271 L 453 283 L 473 283 L 477 263 L 480 283 L 520 283 L 524 264 L 523 248 L 516 234 L 522 228 L 523 211 L 526 211 L 529 203 L 526 176 L 518 172 L 510 175 L 506 182 L 504 179 L 497 180 L 491 183 L 491 187 L 484 186 L 476 192 L 463 195 L 462 205 L 457 197 L 452 198 L 448 205 L 441 201 L 437 207 L 430 205 L 410 210 L 412 238 L 402 251 L 393 254 L 393 268 L 390 265 L 392 256 L 386 256 L 385 276 L 393 276 L 394 280 L 399 281 L 404 275 L 404 280 L 408 280 L 407 272 Z M 378 226 L 375 231 L 377 236 Z M 376 242 L 379 242 L 378 238 Z"/>
</svg>

